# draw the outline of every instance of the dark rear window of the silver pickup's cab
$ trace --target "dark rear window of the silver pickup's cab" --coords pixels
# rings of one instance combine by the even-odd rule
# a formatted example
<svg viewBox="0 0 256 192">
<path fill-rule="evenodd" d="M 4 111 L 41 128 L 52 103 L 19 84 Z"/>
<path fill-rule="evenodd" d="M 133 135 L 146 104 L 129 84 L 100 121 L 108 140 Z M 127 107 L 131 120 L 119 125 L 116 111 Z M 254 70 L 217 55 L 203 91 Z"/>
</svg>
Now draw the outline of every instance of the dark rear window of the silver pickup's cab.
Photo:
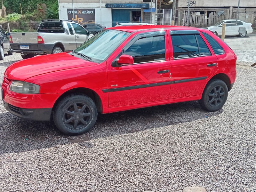
<svg viewBox="0 0 256 192">
<path fill-rule="evenodd" d="M 64 33 L 64 28 L 61 22 L 43 22 L 38 28 L 40 33 Z"/>
</svg>

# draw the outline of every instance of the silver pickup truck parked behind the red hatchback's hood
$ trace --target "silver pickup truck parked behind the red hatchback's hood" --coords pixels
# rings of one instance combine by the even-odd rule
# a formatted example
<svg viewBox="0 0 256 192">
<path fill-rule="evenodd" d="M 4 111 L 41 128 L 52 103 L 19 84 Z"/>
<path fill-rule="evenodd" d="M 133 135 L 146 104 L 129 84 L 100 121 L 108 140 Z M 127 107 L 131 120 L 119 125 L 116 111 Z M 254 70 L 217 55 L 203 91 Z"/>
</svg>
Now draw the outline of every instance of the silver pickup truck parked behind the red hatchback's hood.
<svg viewBox="0 0 256 192">
<path fill-rule="evenodd" d="M 42 20 L 36 32 L 11 33 L 11 52 L 23 59 L 76 49 L 93 35 L 70 20 Z"/>
</svg>

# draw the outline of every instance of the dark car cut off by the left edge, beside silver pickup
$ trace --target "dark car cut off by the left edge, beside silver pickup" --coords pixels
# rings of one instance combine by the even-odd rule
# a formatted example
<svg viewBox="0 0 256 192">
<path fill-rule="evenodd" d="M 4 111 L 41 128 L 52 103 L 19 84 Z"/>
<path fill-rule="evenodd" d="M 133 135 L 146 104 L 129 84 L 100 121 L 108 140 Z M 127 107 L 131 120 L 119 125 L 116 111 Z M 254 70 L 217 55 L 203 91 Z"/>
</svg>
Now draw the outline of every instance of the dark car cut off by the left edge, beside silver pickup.
<svg viewBox="0 0 256 192">
<path fill-rule="evenodd" d="M 0 27 L 0 60 L 4 59 L 4 52 L 12 55 L 10 47 L 10 33 L 5 33 L 4 29 Z"/>
</svg>

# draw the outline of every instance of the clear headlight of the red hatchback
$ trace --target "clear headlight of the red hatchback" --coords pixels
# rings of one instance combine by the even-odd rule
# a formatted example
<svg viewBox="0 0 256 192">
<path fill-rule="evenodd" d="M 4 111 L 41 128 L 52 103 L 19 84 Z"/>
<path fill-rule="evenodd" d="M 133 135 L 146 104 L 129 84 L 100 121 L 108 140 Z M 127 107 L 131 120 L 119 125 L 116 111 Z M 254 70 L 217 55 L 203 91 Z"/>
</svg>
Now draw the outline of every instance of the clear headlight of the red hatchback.
<svg viewBox="0 0 256 192">
<path fill-rule="evenodd" d="M 40 91 L 40 86 L 24 81 L 13 81 L 10 85 L 10 91 L 23 94 L 37 94 Z"/>
</svg>

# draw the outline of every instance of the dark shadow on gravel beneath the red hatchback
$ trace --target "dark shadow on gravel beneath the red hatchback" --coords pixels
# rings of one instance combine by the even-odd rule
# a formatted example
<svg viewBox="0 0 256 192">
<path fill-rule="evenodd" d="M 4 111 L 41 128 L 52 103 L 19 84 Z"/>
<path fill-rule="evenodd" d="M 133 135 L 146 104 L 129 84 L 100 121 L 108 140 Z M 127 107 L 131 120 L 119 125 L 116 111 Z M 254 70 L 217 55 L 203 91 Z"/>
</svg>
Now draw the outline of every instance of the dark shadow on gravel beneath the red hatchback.
<svg viewBox="0 0 256 192">
<path fill-rule="evenodd" d="M 0 114 L 0 154 L 46 149 L 68 143 L 93 147 L 89 140 L 192 122 L 216 116 L 222 112 L 223 109 L 206 112 L 200 108 L 197 101 L 189 101 L 99 114 L 92 130 L 79 136 L 63 135 L 53 122 L 25 121 L 6 112 Z"/>
</svg>

